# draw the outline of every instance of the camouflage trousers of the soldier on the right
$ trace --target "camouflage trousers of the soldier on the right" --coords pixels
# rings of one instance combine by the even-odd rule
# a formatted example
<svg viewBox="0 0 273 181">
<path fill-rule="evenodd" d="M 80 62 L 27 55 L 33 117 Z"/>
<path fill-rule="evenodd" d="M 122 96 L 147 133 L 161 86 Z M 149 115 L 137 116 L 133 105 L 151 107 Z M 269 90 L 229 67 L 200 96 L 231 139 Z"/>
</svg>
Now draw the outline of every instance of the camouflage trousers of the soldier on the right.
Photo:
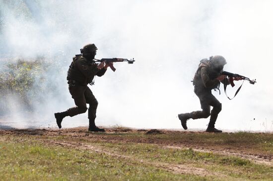
<svg viewBox="0 0 273 181">
<path fill-rule="evenodd" d="M 212 95 L 211 91 L 195 91 L 195 93 L 200 99 L 202 111 L 188 113 L 189 118 L 200 119 L 210 116 L 208 127 L 214 127 L 218 114 L 222 110 L 222 104 Z M 210 106 L 213 107 L 211 112 Z"/>
</svg>

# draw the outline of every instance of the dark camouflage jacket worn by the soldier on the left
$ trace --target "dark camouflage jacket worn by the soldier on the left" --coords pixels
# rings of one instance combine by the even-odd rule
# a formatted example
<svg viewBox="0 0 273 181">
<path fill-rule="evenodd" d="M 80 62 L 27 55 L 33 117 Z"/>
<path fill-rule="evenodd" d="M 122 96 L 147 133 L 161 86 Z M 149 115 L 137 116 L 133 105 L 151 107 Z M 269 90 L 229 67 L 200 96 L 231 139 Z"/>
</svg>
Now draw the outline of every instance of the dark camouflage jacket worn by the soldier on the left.
<svg viewBox="0 0 273 181">
<path fill-rule="evenodd" d="M 68 69 L 68 83 L 75 81 L 79 85 L 91 83 L 95 76 L 103 76 L 106 69 L 98 69 L 98 64 L 87 61 L 82 56 L 73 57 L 73 61 Z"/>
</svg>

